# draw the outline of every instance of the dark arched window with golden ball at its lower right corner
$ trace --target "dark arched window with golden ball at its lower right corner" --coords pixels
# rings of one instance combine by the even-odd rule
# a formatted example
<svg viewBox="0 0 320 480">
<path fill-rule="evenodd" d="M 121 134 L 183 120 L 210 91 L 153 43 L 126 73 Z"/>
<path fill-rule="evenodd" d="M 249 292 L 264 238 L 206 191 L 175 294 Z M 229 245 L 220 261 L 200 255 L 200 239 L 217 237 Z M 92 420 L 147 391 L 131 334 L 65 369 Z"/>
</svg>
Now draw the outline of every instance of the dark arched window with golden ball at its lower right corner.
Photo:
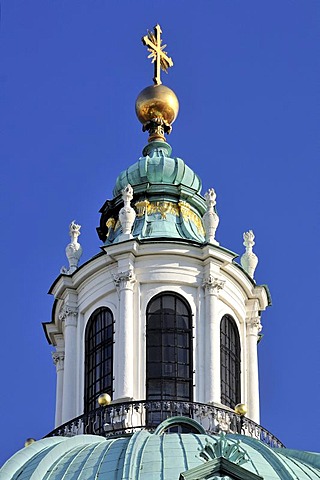
<svg viewBox="0 0 320 480">
<path fill-rule="evenodd" d="M 98 308 L 88 321 L 85 336 L 85 413 L 98 407 L 101 393 L 108 393 L 112 398 L 113 334 L 111 310 Z"/>
</svg>

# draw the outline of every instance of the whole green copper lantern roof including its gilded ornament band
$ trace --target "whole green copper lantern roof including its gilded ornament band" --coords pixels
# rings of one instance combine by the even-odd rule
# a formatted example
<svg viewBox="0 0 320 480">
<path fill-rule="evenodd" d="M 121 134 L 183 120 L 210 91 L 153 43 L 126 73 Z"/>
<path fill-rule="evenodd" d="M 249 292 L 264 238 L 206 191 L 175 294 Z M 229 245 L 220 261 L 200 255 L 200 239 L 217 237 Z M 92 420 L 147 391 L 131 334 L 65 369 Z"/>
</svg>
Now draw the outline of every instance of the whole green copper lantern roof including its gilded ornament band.
<svg viewBox="0 0 320 480">
<path fill-rule="evenodd" d="M 100 210 L 97 230 L 106 245 L 126 239 L 119 213 L 124 206 L 123 192 L 129 186 L 136 213 L 130 238 L 205 241 L 202 217 L 206 202 L 200 193 L 200 178 L 181 158 L 171 157 L 170 145 L 154 141 L 118 176 L 113 199 Z"/>
</svg>

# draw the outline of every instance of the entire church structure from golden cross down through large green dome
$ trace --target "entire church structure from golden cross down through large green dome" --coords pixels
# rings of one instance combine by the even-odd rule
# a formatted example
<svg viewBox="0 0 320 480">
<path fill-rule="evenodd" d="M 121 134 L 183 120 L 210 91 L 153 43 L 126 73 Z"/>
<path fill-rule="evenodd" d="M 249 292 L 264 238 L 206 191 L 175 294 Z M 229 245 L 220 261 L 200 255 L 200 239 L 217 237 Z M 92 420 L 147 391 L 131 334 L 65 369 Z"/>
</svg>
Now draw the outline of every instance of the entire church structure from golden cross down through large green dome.
<svg viewBox="0 0 320 480">
<path fill-rule="evenodd" d="M 0 480 L 317 479 L 317 454 L 283 448 L 259 424 L 257 346 L 269 290 L 245 252 L 219 244 L 217 195 L 172 155 L 178 115 L 160 72 L 173 65 L 161 28 L 143 37 L 154 84 L 136 113 L 148 144 L 101 207 L 101 252 L 53 283 L 44 324 L 56 365 L 55 429 L 27 442 Z"/>
</svg>

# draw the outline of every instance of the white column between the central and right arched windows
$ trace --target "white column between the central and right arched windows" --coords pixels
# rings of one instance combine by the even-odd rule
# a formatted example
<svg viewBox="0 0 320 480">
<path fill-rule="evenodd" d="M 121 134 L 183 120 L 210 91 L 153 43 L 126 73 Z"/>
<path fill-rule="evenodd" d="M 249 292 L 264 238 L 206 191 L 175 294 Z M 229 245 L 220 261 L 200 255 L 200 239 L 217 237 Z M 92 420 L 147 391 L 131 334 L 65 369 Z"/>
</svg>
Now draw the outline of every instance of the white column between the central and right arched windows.
<svg viewBox="0 0 320 480">
<path fill-rule="evenodd" d="M 221 403 L 220 381 L 220 318 L 217 312 L 219 291 L 225 281 L 209 275 L 203 281 L 205 289 L 205 402 Z"/>
</svg>

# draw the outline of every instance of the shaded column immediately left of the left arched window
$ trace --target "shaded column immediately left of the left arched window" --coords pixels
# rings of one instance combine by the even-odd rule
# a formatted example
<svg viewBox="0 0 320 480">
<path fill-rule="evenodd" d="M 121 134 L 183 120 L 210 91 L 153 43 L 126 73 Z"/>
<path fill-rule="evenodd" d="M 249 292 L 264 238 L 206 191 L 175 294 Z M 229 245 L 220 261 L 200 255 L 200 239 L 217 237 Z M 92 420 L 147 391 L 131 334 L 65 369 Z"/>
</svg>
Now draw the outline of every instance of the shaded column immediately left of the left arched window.
<svg viewBox="0 0 320 480">
<path fill-rule="evenodd" d="M 74 306 L 64 305 L 59 318 L 64 321 L 64 375 L 62 423 L 77 416 L 76 412 L 76 380 L 77 368 L 77 317 L 78 310 Z"/>
</svg>

